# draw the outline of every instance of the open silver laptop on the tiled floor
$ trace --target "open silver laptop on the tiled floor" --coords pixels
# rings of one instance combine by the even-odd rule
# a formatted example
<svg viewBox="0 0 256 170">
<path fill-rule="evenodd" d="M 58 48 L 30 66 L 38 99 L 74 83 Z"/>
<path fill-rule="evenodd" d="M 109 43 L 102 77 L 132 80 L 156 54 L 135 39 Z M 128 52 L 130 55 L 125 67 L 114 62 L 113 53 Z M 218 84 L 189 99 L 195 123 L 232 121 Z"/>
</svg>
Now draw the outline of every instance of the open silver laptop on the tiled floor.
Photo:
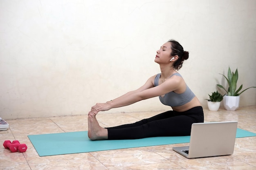
<svg viewBox="0 0 256 170">
<path fill-rule="evenodd" d="M 173 150 L 186 158 L 231 155 L 237 124 L 237 121 L 192 124 L 189 146 L 173 147 Z"/>
</svg>

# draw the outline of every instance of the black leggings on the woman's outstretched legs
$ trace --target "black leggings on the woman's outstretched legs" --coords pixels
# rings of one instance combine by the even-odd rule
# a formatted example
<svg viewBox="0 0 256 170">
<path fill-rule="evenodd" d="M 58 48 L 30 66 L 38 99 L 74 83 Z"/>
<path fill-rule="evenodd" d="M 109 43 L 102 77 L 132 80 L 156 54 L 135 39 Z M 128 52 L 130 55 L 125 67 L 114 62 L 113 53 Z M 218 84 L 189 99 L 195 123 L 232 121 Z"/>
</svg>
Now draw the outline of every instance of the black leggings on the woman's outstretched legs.
<svg viewBox="0 0 256 170">
<path fill-rule="evenodd" d="M 189 136 L 193 123 L 204 122 L 201 106 L 185 112 L 167 111 L 133 124 L 108 129 L 108 139 L 141 139 L 145 137 Z"/>
</svg>

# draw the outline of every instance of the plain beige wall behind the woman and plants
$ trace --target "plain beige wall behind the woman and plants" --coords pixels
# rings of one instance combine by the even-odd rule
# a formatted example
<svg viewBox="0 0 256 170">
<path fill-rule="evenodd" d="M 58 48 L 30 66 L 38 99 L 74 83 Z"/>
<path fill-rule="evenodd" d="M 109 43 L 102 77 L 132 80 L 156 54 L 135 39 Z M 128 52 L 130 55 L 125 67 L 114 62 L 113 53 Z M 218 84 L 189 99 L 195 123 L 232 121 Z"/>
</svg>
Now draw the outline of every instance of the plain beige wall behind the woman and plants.
<svg viewBox="0 0 256 170">
<path fill-rule="evenodd" d="M 255 20 L 255 0 L 0 0 L 0 116 L 87 114 L 159 73 L 169 39 L 190 52 L 180 73 L 207 108 L 228 66 L 256 86 Z M 250 105 L 256 89 L 241 95 Z M 168 108 L 155 97 L 108 112 Z"/>
</svg>

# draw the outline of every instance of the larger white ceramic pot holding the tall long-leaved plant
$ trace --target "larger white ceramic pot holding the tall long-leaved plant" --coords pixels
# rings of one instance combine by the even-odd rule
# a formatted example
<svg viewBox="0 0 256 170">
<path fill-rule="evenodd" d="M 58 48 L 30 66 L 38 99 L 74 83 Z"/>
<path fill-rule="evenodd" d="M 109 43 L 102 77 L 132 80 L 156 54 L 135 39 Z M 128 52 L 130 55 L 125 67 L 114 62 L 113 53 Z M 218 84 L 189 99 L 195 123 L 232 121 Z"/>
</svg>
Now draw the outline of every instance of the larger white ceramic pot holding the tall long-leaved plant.
<svg viewBox="0 0 256 170">
<path fill-rule="evenodd" d="M 236 110 L 239 108 L 240 96 L 228 96 L 223 97 L 223 105 L 226 110 Z"/>
</svg>

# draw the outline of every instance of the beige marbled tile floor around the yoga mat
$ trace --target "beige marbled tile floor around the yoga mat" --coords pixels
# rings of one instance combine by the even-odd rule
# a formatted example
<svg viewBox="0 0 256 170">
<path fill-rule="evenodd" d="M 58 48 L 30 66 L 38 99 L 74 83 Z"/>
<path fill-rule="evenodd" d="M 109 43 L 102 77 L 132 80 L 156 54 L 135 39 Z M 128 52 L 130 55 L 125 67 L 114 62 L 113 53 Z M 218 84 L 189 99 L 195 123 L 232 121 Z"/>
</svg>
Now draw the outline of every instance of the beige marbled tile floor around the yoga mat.
<svg viewBox="0 0 256 170">
<path fill-rule="evenodd" d="M 159 112 L 99 113 L 103 127 L 132 123 Z M 204 109 L 205 122 L 238 121 L 238 128 L 256 132 L 256 106 L 236 111 L 223 108 L 218 112 Z M 186 159 L 172 150 L 173 144 L 143 148 L 129 148 L 69 155 L 39 157 L 27 135 L 88 130 L 87 116 L 65 116 L 36 119 L 6 120 L 10 128 L 0 131 L 0 142 L 19 140 L 27 144 L 26 152 L 11 153 L 0 147 L 2 170 L 256 170 L 256 137 L 236 139 L 233 155 Z"/>
</svg>

